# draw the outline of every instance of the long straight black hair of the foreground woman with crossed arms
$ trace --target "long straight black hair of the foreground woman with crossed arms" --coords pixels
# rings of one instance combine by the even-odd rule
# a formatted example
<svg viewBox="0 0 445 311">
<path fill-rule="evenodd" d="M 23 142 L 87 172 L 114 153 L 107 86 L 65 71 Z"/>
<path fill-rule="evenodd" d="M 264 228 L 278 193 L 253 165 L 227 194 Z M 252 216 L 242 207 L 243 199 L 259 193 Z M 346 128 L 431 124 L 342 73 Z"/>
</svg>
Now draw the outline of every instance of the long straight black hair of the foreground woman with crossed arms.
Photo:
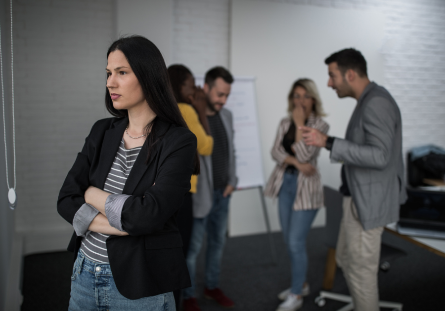
<svg viewBox="0 0 445 311">
<path fill-rule="evenodd" d="M 162 133 L 158 132 L 158 120 L 180 127 L 188 127 L 173 95 L 164 58 L 156 45 L 142 36 L 121 37 L 108 48 L 107 59 L 110 53 L 116 50 L 124 53 L 134 75 L 139 81 L 145 100 L 156 114 L 156 117 L 144 129 L 144 134 L 148 141 L 148 161 L 154 146 L 162 139 L 162 136 L 160 136 Z M 105 92 L 105 106 L 108 112 L 115 117 L 128 116 L 126 109 L 117 110 L 114 108 L 108 88 Z M 199 174 L 199 157 L 197 153 L 194 159 L 193 174 Z"/>
</svg>

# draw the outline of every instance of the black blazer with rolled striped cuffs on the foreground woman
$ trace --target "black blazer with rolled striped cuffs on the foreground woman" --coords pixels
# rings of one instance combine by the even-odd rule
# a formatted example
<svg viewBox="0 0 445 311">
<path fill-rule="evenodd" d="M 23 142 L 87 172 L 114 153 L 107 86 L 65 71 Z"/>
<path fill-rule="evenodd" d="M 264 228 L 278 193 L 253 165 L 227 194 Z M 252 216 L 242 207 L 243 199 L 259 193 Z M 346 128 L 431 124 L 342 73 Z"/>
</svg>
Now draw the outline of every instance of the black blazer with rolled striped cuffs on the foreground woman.
<svg viewBox="0 0 445 311">
<path fill-rule="evenodd" d="M 130 235 L 111 235 L 106 240 L 116 287 L 129 299 L 191 286 L 176 214 L 190 190 L 196 137 L 186 128 L 156 122 L 160 141 L 148 164 L 145 142 L 123 190 L 131 195 L 121 219 Z M 70 224 L 85 203 L 87 188 L 103 189 L 127 124 L 128 117 L 107 118 L 91 128 L 57 200 L 57 211 Z M 75 258 L 81 241 L 74 233 L 68 250 L 74 251 Z"/>
</svg>

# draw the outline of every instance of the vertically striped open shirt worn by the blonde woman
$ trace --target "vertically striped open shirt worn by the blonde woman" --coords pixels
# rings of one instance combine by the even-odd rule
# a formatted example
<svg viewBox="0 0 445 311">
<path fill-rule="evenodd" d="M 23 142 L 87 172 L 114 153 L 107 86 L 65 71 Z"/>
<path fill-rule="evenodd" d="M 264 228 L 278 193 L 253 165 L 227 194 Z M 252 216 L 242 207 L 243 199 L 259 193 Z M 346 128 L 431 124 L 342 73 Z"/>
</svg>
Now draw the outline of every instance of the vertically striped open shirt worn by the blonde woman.
<svg viewBox="0 0 445 311">
<path fill-rule="evenodd" d="M 282 145 L 283 137 L 289 130 L 291 125 L 291 118 L 285 117 L 281 120 L 276 134 L 275 143 L 273 144 L 271 155 L 277 162 L 272 174 L 267 181 L 264 194 L 271 197 L 278 196 L 281 185 L 283 184 L 284 171 L 287 164 L 284 163 L 286 157 L 290 156 L 284 150 Z M 313 127 L 323 133 L 327 133 L 329 125 L 320 117 L 315 117 L 312 113 L 306 126 Z M 314 146 L 307 146 L 303 140 L 292 145 L 292 149 L 296 151 L 295 157 L 301 163 L 311 163 L 316 168 L 315 174 L 306 176 L 304 174 L 298 175 L 297 181 L 297 195 L 294 201 L 294 210 L 308 210 L 320 208 L 324 205 L 323 187 L 321 185 L 321 176 L 317 167 L 317 157 L 320 154 L 320 148 Z"/>
</svg>

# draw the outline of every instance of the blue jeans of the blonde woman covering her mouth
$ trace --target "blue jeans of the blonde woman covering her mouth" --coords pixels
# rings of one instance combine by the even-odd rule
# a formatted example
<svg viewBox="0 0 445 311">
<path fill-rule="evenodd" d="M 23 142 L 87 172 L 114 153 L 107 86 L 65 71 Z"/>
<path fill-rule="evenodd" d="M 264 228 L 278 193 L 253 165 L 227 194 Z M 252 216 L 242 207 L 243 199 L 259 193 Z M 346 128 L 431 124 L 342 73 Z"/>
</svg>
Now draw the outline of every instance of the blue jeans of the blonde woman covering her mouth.
<svg viewBox="0 0 445 311">
<path fill-rule="evenodd" d="M 283 185 L 278 194 L 278 211 L 284 241 L 287 245 L 292 269 L 291 292 L 301 294 L 308 269 L 306 238 L 315 215 L 316 209 L 296 211 L 293 208 L 297 194 L 298 171 L 284 173 Z"/>
</svg>

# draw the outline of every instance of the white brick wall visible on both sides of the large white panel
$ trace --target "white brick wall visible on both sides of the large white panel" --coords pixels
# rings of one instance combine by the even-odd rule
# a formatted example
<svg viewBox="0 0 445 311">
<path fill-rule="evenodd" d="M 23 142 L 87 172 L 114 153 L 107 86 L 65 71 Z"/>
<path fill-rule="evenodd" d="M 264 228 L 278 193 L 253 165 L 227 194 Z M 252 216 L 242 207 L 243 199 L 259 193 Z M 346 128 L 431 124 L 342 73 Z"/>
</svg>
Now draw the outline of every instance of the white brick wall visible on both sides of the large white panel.
<svg viewBox="0 0 445 311">
<path fill-rule="evenodd" d="M 445 147 L 444 0 L 268 1 L 384 12 L 387 19 L 386 42 L 382 47 L 383 85 L 401 109 L 403 149 L 428 143 Z M 213 65 L 229 64 L 229 3 L 174 1 L 175 62 L 189 66 L 196 74 Z"/>
</svg>

